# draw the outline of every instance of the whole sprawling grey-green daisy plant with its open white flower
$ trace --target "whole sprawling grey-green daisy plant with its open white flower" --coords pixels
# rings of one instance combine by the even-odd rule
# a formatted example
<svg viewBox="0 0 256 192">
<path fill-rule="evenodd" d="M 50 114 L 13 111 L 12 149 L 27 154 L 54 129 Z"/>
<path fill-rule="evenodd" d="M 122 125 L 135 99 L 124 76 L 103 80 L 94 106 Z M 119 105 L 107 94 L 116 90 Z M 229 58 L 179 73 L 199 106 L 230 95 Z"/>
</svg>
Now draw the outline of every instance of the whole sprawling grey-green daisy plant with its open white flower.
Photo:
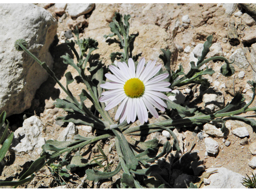
<svg viewBox="0 0 256 192">
<path fill-rule="evenodd" d="M 167 173 L 166 175 L 166 172 L 155 161 L 168 156 L 170 152 L 181 153 L 180 146 L 182 144 L 179 143 L 172 130 L 175 128 L 193 128 L 201 124 L 215 122 L 222 124 L 221 130 L 225 132 L 225 122 L 229 119 L 244 121 L 255 128 L 256 121 L 254 119 L 238 116 L 238 114 L 256 110 L 256 107 L 249 108 L 255 98 L 256 83 L 253 81 L 248 82 L 254 93 L 248 104 L 243 105 L 244 97 L 237 93 L 226 107 L 214 114 L 203 114 L 199 108 L 182 106 L 168 99 L 171 89 L 177 87 L 188 84 L 210 86 L 204 75 L 211 75 L 215 71 L 208 67 L 201 69 L 201 66 L 211 60 L 218 59 L 225 62 L 221 68 L 224 76 L 234 74 L 232 62 L 226 58 L 217 56 L 205 59 L 212 45 L 212 36 L 206 39 L 202 56 L 198 58 L 198 62 L 190 62 L 191 68 L 187 74 L 184 73 L 182 66 L 179 66 L 178 70 L 174 72 L 170 66 L 172 58 L 170 50 L 161 49 L 163 54 L 159 58 L 163 64 L 157 63 L 156 60 L 146 61 L 143 57 L 138 62 L 138 55 L 132 55 L 136 35 L 129 34 L 129 19 L 130 15 L 124 15 L 123 18 L 122 14 L 116 13 L 113 22 L 110 23 L 112 34 L 104 36 L 106 42 L 117 42 L 123 51 L 114 52 L 110 55 L 112 64 L 108 66 L 109 70 L 104 69 L 100 60 L 92 59 L 92 52 L 98 49 L 96 40 L 91 38 L 79 39 L 79 32 L 76 28 L 74 34 L 77 40 L 66 41 L 68 47 L 74 52 L 77 62 L 75 64 L 72 56 L 66 54 L 61 57 L 63 63 L 74 67 L 85 85 L 79 98 L 74 96 L 68 88 L 74 81 L 70 72 L 65 74 L 66 86 L 62 85 L 47 64 L 38 60 L 26 48 L 29 45 L 24 39 L 15 42 L 17 50 L 23 50 L 34 58 L 66 92 L 67 98 L 56 99 L 54 104 L 58 108 L 63 108 L 68 112 L 68 115 L 58 117 L 57 120 L 92 126 L 96 130 L 94 136 L 90 137 L 78 134 L 70 141 L 47 140 L 46 144 L 42 146 L 40 164 L 33 169 L 34 171 L 39 170 L 45 164 L 52 165 L 53 163 L 59 170 L 74 171 L 76 168 L 84 167 L 87 174 L 86 179 L 98 182 L 102 179 L 111 178 L 122 170 L 122 178 L 118 187 L 171 188 L 172 174 Z M 80 49 L 79 54 L 75 48 L 76 44 Z M 90 75 L 85 74 L 86 70 L 90 72 Z M 92 102 L 92 108 L 85 106 L 85 100 Z M 111 116 L 109 112 L 116 106 L 118 109 L 114 116 Z M 158 118 L 160 111 L 161 114 L 165 113 L 164 118 L 166 120 L 148 123 L 148 112 Z M 138 122 L 133 124 L 137 117 Z M 142 136 L 162 130 L 166 130 L 172 135 L 172 142 L 167 141 L 161 145 L 158 138 L 146 142 L 130 138 L 131 135 Z M 108 154 L 104 158 L 97 158 L 96 160 L 87 160 L 83 157 L 82 148 L 100 140 L 111 138 L 114 138 L 118 154 L 117 166 L 112 164 L 111 170 L 104 168 L 102 163 L 106 161 L 106 158 L 109 158 Z M 178 160 L 179 157 L 174 159 L 170 164 L 170 169 L 180 166 L 184 172 L 193 172 L 190 164 L 195 161 L 198 163 L 198 158 L 196 158 L 196 152 L 191 153 L 192 157 L 190 153 L 191 150 L 183 154 L 180 160 Z M 58 165 L 56 165 L 56 160 L 58 160 Z M 186 164 L 181 166 L 180 162 L 186 162 Z M 101 165 L 102 171 L 90 168 L 98 165 Z M 64 166 L 66 168 L 62 168 Z"/>
</svg>

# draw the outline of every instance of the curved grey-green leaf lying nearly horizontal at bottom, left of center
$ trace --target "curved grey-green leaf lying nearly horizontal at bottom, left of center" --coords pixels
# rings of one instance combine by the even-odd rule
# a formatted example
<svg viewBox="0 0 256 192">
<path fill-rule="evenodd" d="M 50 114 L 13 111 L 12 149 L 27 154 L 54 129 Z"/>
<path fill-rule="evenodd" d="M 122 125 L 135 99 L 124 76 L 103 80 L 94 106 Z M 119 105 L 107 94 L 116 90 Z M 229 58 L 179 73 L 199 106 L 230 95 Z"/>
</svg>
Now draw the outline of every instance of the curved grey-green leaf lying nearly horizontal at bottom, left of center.
<svg viewBox="0 0 256 192">
<path fill-rule="evenodd" d="M 94 169 L 88 169 L 86 170 L 86 174 L 87 174 L 87 180 L 89 181 L 94 181 L 94 182 L 98 182 L 101 179 L 107 179 L 110 178 L 116 174 L 118 174 L 121 170 L 121 164 L 119 163 L 116 170 L 112 171 L 112 172 L 101 172 L 98 170 L 94 170 Z"/>
</svg>

